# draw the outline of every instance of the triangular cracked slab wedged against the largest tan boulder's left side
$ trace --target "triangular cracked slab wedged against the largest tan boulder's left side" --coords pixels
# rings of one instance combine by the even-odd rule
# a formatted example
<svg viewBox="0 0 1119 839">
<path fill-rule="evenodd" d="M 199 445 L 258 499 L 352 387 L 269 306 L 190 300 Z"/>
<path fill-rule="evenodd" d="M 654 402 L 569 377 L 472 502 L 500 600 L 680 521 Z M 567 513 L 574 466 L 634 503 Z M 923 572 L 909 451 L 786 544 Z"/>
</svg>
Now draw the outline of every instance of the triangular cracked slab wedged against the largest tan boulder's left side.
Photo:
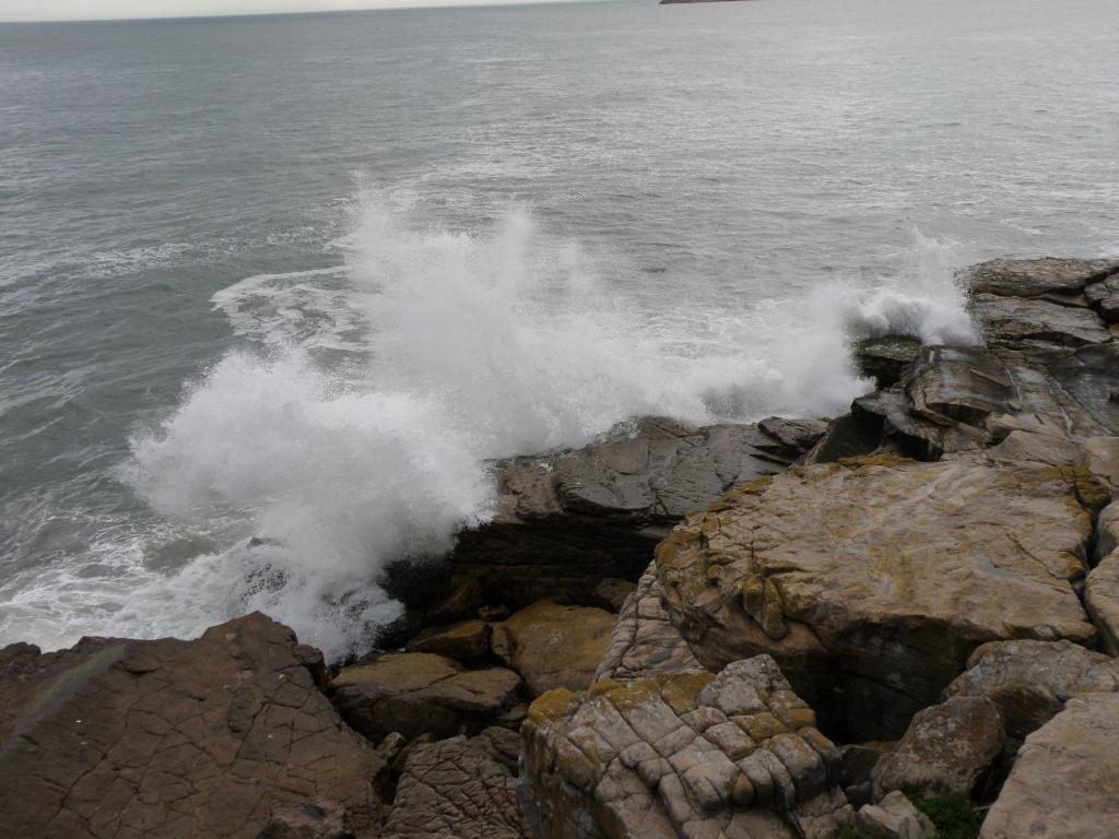
<svg viewBox="0 0 1119 839">
<path fill-rule="evenodd" d="M 688 642 L 668 621 L 657 568 L 650 564 L 622 607 L 594 679 L 622 681 L 700 669 Z"/>
</svg>

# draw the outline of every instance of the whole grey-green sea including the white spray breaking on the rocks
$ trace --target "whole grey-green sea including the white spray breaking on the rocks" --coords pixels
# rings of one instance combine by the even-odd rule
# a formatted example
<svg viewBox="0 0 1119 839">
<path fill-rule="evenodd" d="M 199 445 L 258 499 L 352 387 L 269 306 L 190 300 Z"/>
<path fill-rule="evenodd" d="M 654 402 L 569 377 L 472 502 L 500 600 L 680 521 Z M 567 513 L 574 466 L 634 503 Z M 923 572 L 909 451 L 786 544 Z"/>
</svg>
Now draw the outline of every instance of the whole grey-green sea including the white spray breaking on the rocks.
<svg viewBox="0 0 1119 839">
<path fill-rule="evenodd" d="M 495 459 L 841 413 L 852 340 L 975 338 L 960 266 L 1119 255 L 1116 32 L 1115 0 L 0 25 L 0 644 L 260 609 L 341 658 Z"/>
</svg>

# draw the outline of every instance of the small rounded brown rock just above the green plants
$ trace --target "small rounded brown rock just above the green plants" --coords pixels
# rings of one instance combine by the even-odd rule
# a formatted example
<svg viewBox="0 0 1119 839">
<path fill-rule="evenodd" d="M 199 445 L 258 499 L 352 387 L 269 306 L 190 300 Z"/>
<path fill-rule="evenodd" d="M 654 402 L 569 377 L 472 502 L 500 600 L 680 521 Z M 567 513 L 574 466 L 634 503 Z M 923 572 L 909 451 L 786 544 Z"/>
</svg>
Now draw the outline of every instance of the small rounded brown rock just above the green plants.
<svg viewBox="0 0 1119 839">
<path fill-rule="evenodd" d="M 925 708 L 875 765 L 874 798 L 895 790 L 968 798 L 1005 739 L 998 708 L 986 697 L 958 696 Z"/>
</svg>

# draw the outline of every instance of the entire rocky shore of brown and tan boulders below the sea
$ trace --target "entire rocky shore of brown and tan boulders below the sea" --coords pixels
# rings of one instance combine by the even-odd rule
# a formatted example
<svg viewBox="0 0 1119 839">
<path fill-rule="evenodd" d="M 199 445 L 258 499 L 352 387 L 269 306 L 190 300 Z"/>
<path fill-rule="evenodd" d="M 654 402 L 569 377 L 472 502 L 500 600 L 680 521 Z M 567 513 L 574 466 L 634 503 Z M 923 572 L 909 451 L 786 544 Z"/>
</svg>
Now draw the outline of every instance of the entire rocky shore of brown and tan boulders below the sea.
<svg viewBox="0 0 1119 839">
<path fill-rule="evenodd" d="M 506 463 L 340 669 L 0 650 L 0 835 L 1115 839 L 1119 261 L 961 282 L 984 343 L 861 342 L 843 416 Z"/>
</svg>

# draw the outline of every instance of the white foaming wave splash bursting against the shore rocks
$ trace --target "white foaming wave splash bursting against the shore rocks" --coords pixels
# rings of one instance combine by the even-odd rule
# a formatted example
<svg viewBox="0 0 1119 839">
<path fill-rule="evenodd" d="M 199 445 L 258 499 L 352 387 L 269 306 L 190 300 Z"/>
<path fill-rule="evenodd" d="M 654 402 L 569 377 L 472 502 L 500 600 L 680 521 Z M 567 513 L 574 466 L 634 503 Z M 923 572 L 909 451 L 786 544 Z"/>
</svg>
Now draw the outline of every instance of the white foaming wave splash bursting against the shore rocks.
<svg viewBox="0 0 1119 839">
<path fill-rule="evenodd" d="M 138 575 L 107 631 L 192 635 L 261 609 L 342 658 L 396 614 L 374 582 L 386 562 L 487 519 L 489 460 L 641 414 L 831 415 L 869 387 L 853 337 L 974 337 L 952 248 L 931 241 L 890 282 L 652 312 L 524 211 L 467 234 L 375 194 L 358 208 L 341 268 L 215 295 L 256 349 L 137 433 L 121 474 L 184 531 L 219 521 L 236 547 Z"/>
</svg>

